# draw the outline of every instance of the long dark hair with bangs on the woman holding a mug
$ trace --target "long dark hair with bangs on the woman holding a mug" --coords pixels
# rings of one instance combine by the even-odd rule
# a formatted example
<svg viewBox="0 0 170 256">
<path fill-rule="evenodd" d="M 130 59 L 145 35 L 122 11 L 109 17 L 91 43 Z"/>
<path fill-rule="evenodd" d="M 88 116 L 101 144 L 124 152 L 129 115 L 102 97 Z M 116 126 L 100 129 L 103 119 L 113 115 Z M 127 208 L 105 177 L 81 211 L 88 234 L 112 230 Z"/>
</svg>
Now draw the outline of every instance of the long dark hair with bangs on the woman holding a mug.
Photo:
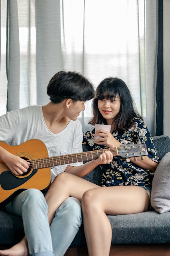
<svg viewBox="0 0 170 256">
<path fill-rule="evenodd" d="M 117 77 L 108 77 L 100 82 L 96 89 L 92 102 L 93 117 L 89 124 L 106 124 L 106 119 L 102 117 L 98 109 L 99 99 L 113 99 L 117 95 L 120 98 L 120 110 L 114 120 L 115 130 L 124 131 L 132 127 L 133 118 L 141 118 L 139 115 L 128 86 L 123 80 Z"/>
</svg>

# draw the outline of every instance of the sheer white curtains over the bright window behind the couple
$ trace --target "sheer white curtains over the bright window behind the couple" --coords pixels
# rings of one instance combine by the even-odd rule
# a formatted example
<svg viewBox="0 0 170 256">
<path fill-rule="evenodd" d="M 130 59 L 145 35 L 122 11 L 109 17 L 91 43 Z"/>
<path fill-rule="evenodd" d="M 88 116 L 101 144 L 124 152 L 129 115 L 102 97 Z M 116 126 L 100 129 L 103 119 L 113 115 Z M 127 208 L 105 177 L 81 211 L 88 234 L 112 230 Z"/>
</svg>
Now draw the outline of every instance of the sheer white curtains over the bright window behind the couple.
<svg viewBox="0 0 170 256">
<path fill-rule="evenodd" d="M 6 79 L 7 54 L 8 111 L 46 104 L 48 81 L 60 70 L 80 72 L 95 86 L 116 76 L 155 135 L 156 0 L 1 0 L 2 15 L 0 82 Z M 0 114 L 6 111 L 3 89 Z M 87 102 L 80 117 L 84 130 L 90 117 Z"/>
</svg>

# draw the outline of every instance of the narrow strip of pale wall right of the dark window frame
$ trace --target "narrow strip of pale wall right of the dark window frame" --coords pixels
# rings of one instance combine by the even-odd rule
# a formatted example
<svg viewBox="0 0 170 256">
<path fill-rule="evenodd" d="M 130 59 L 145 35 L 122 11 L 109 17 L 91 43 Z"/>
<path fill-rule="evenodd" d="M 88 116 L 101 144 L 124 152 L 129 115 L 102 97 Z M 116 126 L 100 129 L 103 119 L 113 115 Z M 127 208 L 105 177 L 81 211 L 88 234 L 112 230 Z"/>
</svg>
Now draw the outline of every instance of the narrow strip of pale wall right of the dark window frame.
<svg viewBox="0 0 170 256">
<path fill-rule="evenodd" d="M 170 137 L 170 0 L 164 0 L 164 135 Z"/>
</svg>

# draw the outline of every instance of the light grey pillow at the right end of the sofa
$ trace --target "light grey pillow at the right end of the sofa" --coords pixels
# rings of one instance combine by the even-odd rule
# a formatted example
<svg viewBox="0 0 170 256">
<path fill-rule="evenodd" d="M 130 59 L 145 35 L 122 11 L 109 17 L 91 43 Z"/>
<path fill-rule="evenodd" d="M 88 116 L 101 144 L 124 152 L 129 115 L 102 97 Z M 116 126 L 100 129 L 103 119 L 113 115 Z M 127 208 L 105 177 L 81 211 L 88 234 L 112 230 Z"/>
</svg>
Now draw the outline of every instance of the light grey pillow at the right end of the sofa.
<svg viewBox="0 0 170 256">
<path fill-rule="evenodd" d="M 151 205 L 159 213 L 170 211 L 170 152 L 156 168 L 152 182 Z"/>
</svg>

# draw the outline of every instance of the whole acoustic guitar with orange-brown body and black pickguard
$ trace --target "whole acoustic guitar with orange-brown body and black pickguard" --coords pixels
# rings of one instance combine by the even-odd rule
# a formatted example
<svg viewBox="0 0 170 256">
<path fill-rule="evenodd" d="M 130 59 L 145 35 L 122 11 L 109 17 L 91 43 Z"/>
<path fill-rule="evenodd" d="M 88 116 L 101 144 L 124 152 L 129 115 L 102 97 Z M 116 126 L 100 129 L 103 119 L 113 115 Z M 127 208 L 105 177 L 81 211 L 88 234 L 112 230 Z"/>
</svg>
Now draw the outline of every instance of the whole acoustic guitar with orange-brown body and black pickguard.
<svg viewBox="0 0 170 256">
<path fill-rule="evenodd" d="M 136 156 L 141 156 L 142 159 L 143 155 L 148 154 L 145 144 L 128 144 L 121 145 L 118 148 L 51 157 L 48 156 L 44 142 L 39 139 L 31 139 L 18 146 L 11 146 L 0 141 L 0 146 L 30 162 L 27 172 L 22 175 L 14 175 L 5 163 L 0 160 L 0 206 L 4 206 L 26 189 L 35 188 L 45 192 L 50 186 L 50 167 L 52 166 L 97 159 L 100 154 L 107 150 L 110 150 L 114 156 L 120 155 L 126 159 Z"/>
</svg>

